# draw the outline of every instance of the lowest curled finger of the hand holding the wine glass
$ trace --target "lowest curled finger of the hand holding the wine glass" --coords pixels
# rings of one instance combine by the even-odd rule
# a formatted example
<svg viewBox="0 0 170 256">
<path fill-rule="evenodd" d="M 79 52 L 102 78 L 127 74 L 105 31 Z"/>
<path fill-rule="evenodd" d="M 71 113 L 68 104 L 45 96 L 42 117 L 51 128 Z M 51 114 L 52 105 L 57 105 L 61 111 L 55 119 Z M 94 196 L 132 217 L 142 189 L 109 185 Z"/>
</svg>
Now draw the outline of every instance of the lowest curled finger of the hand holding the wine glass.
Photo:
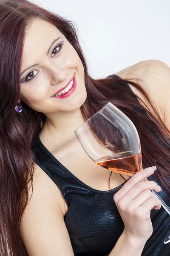
<svg viewBox="0 0 170 256">
<path fill-rule="evenodd" d="M 153 208 L 161 208 L 161 201 L 156 197 L 151 197 L 147 199 L 141 206 L 141 211 L 146 214 L 146 219 L 150 218 L 150 210 Z"/>
</svg>

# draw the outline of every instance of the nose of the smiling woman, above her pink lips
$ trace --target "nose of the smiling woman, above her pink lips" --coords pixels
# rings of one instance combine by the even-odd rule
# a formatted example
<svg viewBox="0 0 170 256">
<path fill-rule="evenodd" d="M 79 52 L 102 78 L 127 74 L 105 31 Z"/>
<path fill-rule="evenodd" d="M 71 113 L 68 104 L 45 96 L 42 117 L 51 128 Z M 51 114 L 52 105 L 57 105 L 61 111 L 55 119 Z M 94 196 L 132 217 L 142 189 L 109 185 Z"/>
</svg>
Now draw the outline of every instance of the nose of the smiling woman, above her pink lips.
<svg viewBox="0 0 170 256">
<path fill-rule="evenodd" d="M 65 80 L 66 71 L 57 65 L 50 64 L 48 66 L 48 73 L 51 85 L 56 85 Z"/>
</svg>

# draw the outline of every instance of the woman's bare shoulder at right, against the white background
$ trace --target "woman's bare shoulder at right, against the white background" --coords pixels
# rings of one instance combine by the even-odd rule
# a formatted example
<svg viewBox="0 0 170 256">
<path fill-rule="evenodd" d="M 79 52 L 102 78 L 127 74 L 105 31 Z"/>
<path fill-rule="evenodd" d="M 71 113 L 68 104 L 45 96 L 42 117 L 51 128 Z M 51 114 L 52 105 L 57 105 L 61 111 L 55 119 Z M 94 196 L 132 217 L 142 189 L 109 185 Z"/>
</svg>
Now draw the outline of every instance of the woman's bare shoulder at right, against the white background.
<svg viewBox="0 0 170 256">
<path fill-rule="evenodd" d="M 170 127 L 170 67 L 167 64 L 158 60 L 140 61 L 117 75 L 122 79 L 139 79 L 139 83 L 150 96 L 162 120 Z M 145 100 L 136 88 L 131 88 L 136 95 Z"/>
</svg>

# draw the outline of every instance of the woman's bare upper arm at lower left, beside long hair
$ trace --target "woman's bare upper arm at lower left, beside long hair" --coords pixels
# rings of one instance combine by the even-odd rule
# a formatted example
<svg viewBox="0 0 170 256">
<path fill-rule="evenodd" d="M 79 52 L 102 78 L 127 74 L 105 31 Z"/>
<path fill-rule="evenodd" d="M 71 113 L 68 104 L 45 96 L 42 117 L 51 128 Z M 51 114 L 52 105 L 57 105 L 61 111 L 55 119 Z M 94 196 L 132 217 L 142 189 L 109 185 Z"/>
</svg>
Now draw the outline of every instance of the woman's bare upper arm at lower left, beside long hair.
<svg viewBox="0 0 170 256">
<path fill-rule="evenodd" d="M 67 209 L 54 182 L 35 164 L 33 192 L 21 219 L 21 237 L 29 256 L 73 256 L 65 226 Z"/>
</svg>

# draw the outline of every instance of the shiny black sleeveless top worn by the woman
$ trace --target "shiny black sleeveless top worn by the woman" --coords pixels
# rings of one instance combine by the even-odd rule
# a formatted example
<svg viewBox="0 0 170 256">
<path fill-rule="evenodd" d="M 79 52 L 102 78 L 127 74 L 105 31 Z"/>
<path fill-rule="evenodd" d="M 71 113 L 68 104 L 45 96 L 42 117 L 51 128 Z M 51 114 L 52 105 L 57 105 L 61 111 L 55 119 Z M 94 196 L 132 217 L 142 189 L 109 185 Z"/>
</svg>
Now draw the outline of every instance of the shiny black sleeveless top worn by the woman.
<svg viewBox="0 0 170 256">
<path fill-rule="evenodd" d="M 123 86 L 129 87 L 128 84 Z M 59 163 L 41 143 L 39 136 L 33 150 L 36 163 L 59 187 L 68 205 L 64 220 L 74 255 L 108 256 L 124 229 L 113 193 L 125 183 L 110 191 L 93 189 Z M 148 177 L 148 180 L 153 179 L 152 176 Z M 159 181 L 156 182 L 159 184 Z M 170 207 L 170 198 L 166 197 L 163 189 L 159 195 Z M 152 209 L 151 220 L 153 234 L 147 240 L 142 256 L 170 256 L 170 243 L 164 244 L 164 240 L 170 236 L 170 215 L 162 207 Z"/>
</svg>

